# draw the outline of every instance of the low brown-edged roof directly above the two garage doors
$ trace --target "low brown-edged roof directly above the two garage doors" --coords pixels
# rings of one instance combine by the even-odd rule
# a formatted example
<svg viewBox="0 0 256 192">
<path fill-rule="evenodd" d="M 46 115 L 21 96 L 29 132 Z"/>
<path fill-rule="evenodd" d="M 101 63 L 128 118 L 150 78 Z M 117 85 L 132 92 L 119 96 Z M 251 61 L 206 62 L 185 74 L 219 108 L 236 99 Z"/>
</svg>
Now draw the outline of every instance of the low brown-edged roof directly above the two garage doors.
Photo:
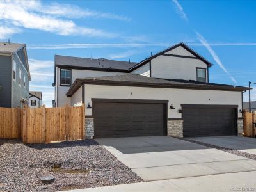
<svg viewBox="0 0 256 192">
<path fill-rule="evenodd" d="M 226 90 L 226 91 L 243 91 L 248 90 L 247 87 L 232 86 L 228 84 L 216 83 L 200 83 L 195 81 L 159 79 L 153 77 L 145 77 L 138 74 L 125 74 L 118 76 L 90 77 L 84 79 L 76 79 L 68 92 L 67 97 L 71 97 L 78 88 L 83 84 L 102 84 L 112 86 L 139 86 L 139 87 L 156 87 L 156 88 L 185 88 L 196 90 Z"/>
</svg>

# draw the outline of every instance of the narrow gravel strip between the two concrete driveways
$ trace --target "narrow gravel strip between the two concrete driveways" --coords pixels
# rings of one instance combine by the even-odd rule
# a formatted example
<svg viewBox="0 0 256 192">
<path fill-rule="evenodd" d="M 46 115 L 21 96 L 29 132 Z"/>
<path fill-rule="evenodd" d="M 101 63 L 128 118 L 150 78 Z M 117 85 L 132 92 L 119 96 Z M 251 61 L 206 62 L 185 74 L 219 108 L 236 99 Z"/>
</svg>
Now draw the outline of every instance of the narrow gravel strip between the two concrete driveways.
<svg viewBox="0 0 256 192">
<path fill-rule="evenodd" d="M 217 145 L 211 145 L 209 143 L 204 143 L 204 142 L 195 141 L 195 140 L 189 140 L 189 139 L 182 139 L 182 140 L 189 141 L 191 143 L 196 143 L 196 144 L 199 144 L 199 145 L 204 145 L 206 147 L 216 148 L 218 150 L 223 150 L 223 151 L 228 152 L 230 154 L 235 154 L 237 156 L 246 157 L 248 159 L 256 160 L 256 155 L 255 154 L 249 154 L 249 153 L 242 152 L 242 151 L 239 151 L 239 150 L 234 150 L 234 149 L 226 148 L 226 147 L 220 147 L 220 146 L 217 146 Z"/>
</svg>

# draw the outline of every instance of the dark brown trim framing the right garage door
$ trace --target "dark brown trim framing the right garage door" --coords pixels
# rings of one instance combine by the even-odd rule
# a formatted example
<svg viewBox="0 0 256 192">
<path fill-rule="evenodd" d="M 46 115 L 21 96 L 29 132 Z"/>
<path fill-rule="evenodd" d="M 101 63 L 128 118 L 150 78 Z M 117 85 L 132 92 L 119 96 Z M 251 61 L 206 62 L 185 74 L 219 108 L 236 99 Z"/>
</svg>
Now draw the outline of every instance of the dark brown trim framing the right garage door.
<svg viewBox="0 0 256 192">
<path fill-rule="evenodd" d="M 238 120 L 238 105 L 218 105 L 218 104 L 180 104 L 182 108 L 234 108 L 235 119 L 234 119 L 234 131 L 237 136 L 237 120 Z M 182 114 L 183 119 L 183 114 Z"/>
</svg>

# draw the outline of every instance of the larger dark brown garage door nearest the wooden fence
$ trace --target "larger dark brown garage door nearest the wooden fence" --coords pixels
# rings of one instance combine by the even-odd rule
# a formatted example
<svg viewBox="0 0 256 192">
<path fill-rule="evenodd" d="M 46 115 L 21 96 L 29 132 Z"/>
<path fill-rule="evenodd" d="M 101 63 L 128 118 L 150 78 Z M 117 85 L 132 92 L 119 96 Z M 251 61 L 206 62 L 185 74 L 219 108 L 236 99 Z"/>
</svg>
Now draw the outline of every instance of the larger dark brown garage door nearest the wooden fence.
<svg viewBox="0 0 256 192">
<path fill-rule="evenodd" d="M 164 135 L 165 106 L 163 103 L 93 102 L 95 138 Z"/>
</svg>

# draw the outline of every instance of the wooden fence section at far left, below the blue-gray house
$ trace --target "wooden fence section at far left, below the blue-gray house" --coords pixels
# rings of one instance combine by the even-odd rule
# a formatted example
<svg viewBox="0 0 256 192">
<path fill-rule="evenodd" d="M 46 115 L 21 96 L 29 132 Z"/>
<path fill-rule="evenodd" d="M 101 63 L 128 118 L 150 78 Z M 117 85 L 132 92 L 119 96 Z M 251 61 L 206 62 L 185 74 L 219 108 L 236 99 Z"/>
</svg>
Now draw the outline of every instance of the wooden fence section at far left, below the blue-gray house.
<svg viewBox="0 0 256 192">
<path fill-rule="evenodd" d="M 0 138 L 20 138 L 20 108 L 0 108 Z"/>
</svg>

